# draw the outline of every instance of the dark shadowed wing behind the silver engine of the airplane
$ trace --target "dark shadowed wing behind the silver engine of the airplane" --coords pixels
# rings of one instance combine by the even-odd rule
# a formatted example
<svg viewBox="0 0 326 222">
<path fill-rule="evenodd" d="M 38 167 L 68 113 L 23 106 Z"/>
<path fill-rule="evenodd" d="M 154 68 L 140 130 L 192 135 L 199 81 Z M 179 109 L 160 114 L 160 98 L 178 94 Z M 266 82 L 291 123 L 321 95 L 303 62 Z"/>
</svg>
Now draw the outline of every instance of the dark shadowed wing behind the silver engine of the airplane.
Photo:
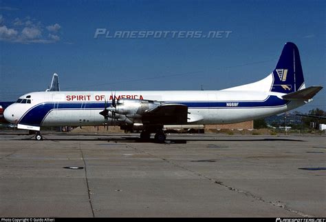
<svg viewBox="0 0 326 222">
<path fill-rule="evenodd" d="M 182 125 L 187 123 L 188 106 L 167 103 L 146 110 L 142 115 L 142 123 L 146 125 Z"/>
</svg>

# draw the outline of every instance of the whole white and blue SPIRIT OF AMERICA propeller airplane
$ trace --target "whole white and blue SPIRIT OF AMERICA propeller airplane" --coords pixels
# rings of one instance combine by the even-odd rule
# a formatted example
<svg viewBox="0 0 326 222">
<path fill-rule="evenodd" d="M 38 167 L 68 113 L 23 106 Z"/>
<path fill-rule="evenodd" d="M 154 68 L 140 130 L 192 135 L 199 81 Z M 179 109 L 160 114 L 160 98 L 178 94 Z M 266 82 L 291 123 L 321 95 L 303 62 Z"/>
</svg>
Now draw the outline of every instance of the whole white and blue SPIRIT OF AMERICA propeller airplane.
<svg viewBox="0 0 326 222">
<path fill-rule="evenodd" d="M 164 143 L 163 125 L 239 123 L 287 112 L 312 101 L 323 87 L 305 87 L 298 48 L 287 42 L 264 79 L 224 90 L 30 92 L 4 112 L 17 128 L 120 125 Z"/>
</svg>

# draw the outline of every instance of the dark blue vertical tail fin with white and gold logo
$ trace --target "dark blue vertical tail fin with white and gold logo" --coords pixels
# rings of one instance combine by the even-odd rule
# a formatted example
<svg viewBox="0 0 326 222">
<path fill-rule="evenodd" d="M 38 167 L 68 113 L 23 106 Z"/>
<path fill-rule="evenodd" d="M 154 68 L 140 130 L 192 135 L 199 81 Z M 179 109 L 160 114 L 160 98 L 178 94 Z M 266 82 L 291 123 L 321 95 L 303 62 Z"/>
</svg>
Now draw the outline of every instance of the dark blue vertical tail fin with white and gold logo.
<svg viewBox="0 0 326 222">
<path fill-rule="evenodd" d="M 272 92 L 296 92 L 304 84 L 298 48 L 294 43 L 285 44 L 279 62 L 273 71 Z"/>
</svg>

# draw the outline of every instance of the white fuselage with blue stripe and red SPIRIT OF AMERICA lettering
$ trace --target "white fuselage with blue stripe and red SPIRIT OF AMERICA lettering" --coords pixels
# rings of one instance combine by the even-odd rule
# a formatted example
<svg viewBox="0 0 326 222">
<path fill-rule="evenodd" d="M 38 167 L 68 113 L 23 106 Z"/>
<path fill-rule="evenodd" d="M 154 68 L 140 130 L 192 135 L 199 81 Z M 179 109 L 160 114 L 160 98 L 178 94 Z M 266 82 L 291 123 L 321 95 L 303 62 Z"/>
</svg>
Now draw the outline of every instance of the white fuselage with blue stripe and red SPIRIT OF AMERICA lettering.
<svg viewBox="0 0 326 222">
<path fill-rule="evenodd" d="M 116 99 L 146 99 L 188 105 L 189 124 L 237 123 L 292 110 L 303 101 L 285 101 L 281 93 L 239 90 L 215 91 L 120 91 Z M 99 114 L 111 104 L 111 91 L 32 92 L 30 103 L 14 103 L 6 110 L 6 119 L 18 128 L 39 130 L 39 126 L 102 125 Z M 111 97 L 111 98 L 110 98 Z M 12 114 L 14 116 L 12 117 Z M 107 121 L 118 125 L 115 120 Z"/>
</svg>

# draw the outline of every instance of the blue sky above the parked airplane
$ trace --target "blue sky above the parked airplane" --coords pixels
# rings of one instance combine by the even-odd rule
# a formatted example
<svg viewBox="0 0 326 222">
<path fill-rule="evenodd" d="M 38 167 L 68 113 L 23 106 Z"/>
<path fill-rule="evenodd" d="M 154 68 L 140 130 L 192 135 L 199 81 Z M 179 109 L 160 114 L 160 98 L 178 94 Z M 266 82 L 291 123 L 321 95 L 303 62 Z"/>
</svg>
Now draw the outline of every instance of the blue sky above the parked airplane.
<svg viewBox="0 0 326 222">
<path fill-rule="evenodd" d="M 287 41 L 298 46 L 305 84 L 325 87 L 325 8 L 325 1 L 0 0 L 0 101 L 44 91 L 54 72 L 61 90 L 221 90 L 266 77 Z M 297 110 L 326 110 L 325 98 L 323 89 Z"/>
</svg>

